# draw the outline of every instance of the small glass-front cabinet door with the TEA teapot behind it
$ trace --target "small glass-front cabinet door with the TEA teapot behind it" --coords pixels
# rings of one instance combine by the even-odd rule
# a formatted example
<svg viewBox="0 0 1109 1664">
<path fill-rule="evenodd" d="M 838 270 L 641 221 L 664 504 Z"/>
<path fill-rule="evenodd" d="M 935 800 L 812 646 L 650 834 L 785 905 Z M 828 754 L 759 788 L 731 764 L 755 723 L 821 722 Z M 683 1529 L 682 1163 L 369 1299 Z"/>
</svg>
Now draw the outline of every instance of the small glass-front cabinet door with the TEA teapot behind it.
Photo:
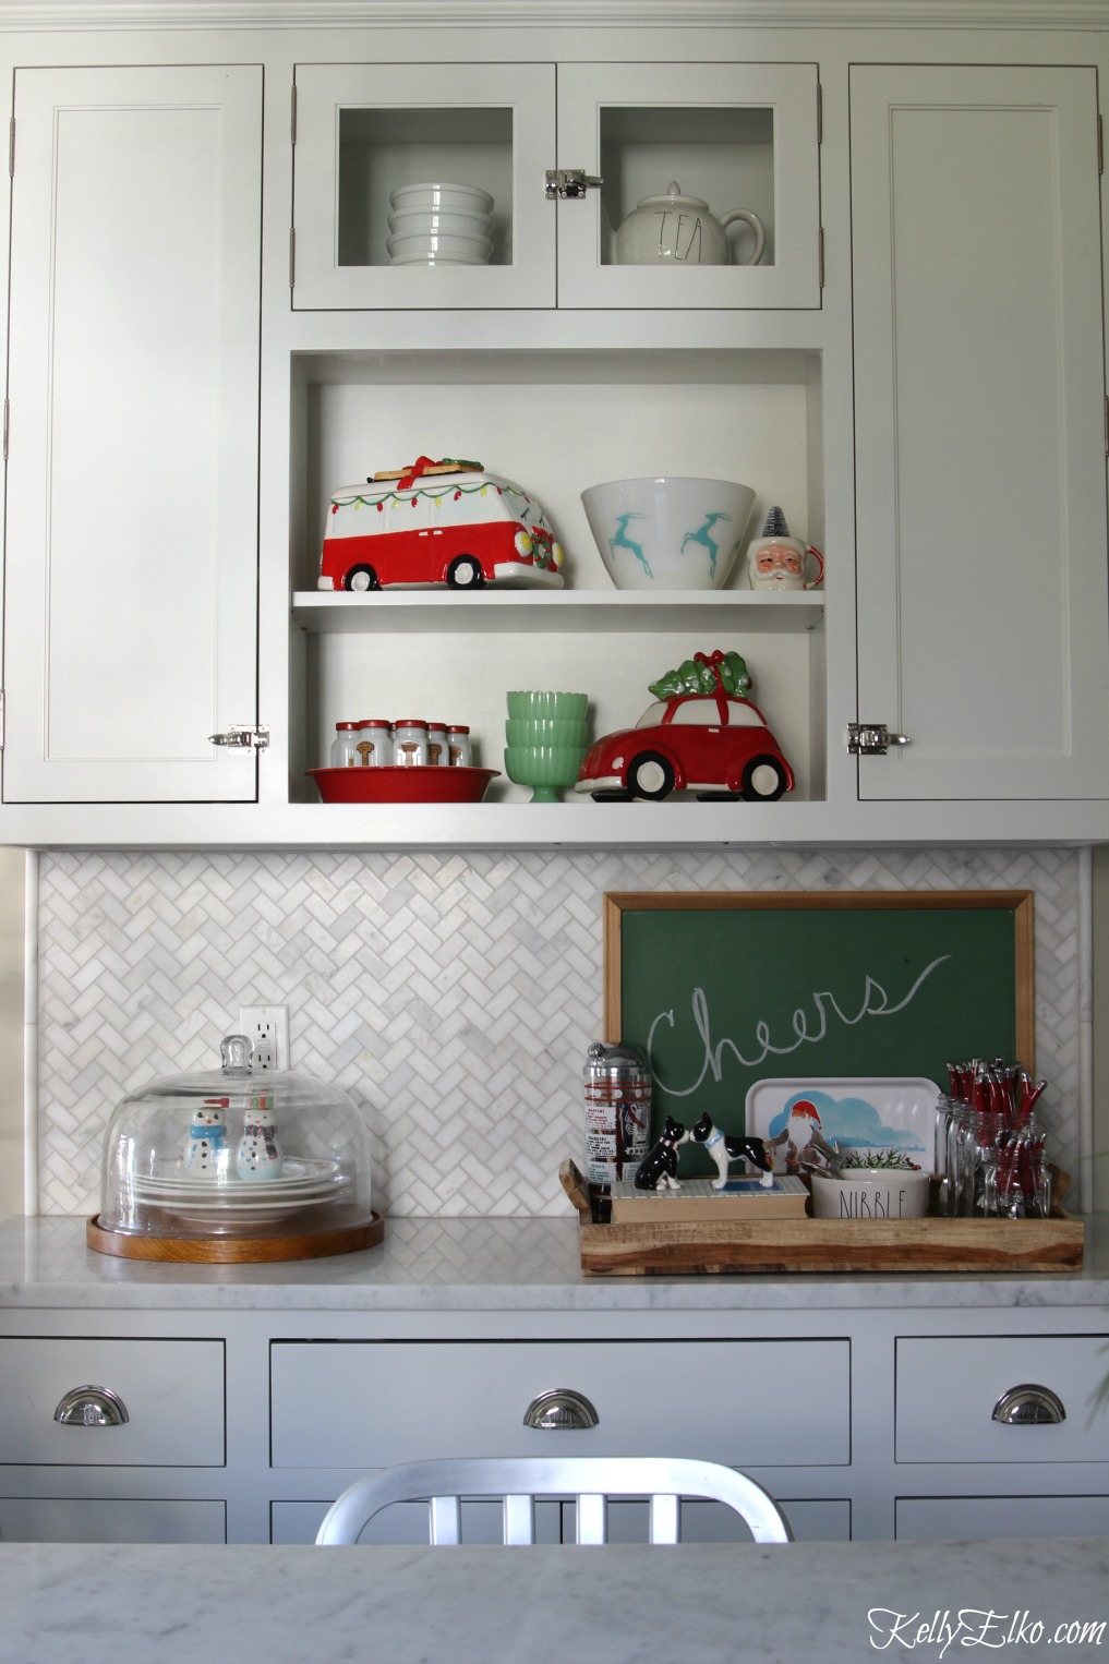
<svg viewBox="0 0 1109 1664">
<path fill-rule="evenodd" d="M 558 72 L 559 306 L 821 303 L 814 63 Z"/>
</svg>

